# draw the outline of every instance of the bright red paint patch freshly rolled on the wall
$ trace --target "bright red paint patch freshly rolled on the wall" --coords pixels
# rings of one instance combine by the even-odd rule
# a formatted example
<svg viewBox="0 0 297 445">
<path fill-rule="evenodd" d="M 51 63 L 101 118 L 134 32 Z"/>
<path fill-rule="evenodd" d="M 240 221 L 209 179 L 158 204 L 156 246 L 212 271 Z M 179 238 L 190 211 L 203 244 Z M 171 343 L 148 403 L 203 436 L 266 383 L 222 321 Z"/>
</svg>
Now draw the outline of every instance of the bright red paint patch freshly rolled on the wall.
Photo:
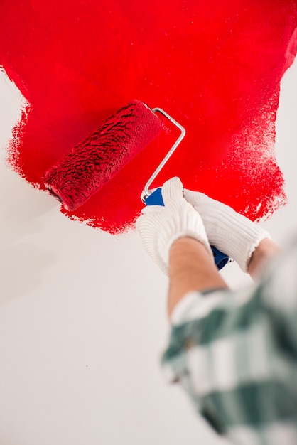
<svg viewBox="0 0 297 445">
<path fill-rule="evenodd" d="M 296 54 L 295 1 L 2 0 L 0 9 L 0 63 L 31 103 L 13 159 L 28 182 L 43 188 L 50 166 L 137 98 L 187 129 L 156 186 L 180 176 L 252 219 L 284 203 L 274 123 L 279 82 Z M 161 133 L 66 213 L 124 230 L 175 136 Z"/>
</svg>

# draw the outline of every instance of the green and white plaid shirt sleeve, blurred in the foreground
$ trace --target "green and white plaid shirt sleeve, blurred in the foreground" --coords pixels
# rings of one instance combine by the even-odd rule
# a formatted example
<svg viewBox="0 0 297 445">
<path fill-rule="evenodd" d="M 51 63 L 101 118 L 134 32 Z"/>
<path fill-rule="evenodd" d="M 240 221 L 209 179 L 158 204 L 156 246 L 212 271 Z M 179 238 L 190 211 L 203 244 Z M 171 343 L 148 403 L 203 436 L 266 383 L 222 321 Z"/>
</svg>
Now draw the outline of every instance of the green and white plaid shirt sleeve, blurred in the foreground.
<svg viewBox="0 0 297 445">
<path fill-rule="evenodd" d="M 249 289 L 187 294 L 172 323 L 163 370 L 217 433 L 297 444 L 297 239 Z"/>
</svg>

